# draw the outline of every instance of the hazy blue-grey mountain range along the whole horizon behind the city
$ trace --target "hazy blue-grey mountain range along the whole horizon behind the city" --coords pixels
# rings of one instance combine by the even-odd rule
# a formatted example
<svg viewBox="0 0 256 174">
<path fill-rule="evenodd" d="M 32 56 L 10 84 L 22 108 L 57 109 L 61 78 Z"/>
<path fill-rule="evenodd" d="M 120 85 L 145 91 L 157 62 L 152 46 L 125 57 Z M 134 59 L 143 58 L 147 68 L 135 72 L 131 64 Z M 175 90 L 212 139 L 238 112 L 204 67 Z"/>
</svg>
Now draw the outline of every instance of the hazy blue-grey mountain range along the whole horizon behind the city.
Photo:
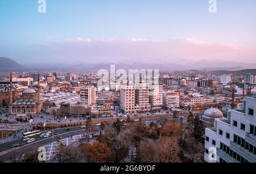
<svg viewBox="0 0 256 174">
<path fill-rule="evenodd" d="M 100 69 L 110 70 L 110 64 L 117 69 L 159 69 L 160 71 L 186 71 L 196 69 L 198 71 L 208 71 L 209 73 L 244 73 L 254 72 L 256 64 L 241 63 L 224 60 L 168 60 L 164 62 L 148 62 L 146 60 L 125 61 L 117 63 L 86 63 L 77 61 L 76 63 L 38 63 L 20 65 L 15 61 L 0 57 L 0 71 L 54 71 L 54 72 L 97 72 Z M 255 73 L 256 74 L 256 73 Z"/>
</svg>

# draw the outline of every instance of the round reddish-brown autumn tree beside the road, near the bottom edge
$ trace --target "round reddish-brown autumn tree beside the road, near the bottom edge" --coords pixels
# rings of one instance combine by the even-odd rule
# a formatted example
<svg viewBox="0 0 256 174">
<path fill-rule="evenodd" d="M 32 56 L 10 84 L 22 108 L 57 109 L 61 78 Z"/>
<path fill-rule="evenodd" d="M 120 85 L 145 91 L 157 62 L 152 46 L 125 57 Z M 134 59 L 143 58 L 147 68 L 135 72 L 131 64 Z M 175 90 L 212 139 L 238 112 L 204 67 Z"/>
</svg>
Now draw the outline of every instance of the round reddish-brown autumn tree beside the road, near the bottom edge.
<svg viewBox="0 0 256 174">
<path fill-rule="evenodd" d="M 83 144 L 81 149 L 85 152 L 88 163 L 105 163 L 112 155 L 108 145 L 98 141 Z"/>
</svg>

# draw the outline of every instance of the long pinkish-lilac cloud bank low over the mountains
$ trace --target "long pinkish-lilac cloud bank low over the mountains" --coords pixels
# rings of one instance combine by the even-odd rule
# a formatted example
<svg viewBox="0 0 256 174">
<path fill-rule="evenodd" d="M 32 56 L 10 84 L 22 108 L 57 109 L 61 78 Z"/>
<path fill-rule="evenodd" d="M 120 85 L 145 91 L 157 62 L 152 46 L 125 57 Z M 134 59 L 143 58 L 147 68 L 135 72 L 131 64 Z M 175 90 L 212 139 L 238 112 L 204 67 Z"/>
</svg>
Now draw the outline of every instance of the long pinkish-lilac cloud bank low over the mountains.
<svg viewBox="0 0 256 174">
<path fill-rule="evenodd" d="M 49 38 L 50 39 L 50 38 Z M 230 43 L 209 43 L 192 38 L 172 38 L 169 40 L 128 39 L 88 39 L 73 38 L 46 45 L 35 45 L 24 56 L 38 57 L 45 61 L 84 61 L 88 63 L 118 63 L 123 61 L 143 61 L 148 63 L 170 63 L 172 61 L 218 59 L 255 63 L 255 48 Z M 26 54 L 26 55 L 25 55 Z M 30 57 L 30 58 L 31 58 Z"/>
</svg>

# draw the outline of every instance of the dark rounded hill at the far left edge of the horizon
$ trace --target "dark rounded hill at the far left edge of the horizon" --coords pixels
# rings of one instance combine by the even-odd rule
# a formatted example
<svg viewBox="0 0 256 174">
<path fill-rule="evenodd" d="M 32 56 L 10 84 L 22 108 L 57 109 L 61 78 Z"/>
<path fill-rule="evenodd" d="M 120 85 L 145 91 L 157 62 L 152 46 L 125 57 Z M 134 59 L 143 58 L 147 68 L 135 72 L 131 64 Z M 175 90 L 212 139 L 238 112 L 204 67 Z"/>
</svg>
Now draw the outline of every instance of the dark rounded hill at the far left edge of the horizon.
<svg viewBox="0 0 256 174">
<path fill-rule="evenodd" d="M 16 63 L 16 61 L 6 57 L 0 57 L 0 71 L 18 71 L 22 69 L 24 69 L 24 67 Z"/>
</svg>

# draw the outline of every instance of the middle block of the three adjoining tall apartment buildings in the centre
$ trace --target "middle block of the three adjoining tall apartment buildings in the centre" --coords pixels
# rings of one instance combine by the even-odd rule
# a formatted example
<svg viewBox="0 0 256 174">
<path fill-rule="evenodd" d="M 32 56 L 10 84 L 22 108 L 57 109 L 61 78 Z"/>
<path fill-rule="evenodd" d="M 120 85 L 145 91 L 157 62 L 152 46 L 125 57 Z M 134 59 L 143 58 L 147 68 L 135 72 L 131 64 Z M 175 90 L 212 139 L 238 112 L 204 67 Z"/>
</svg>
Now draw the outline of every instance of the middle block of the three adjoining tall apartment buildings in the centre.
<svg viewBox="0 0 256 174">
<path fill-rule="evenodd" d="M 139 83 L 135 88 L 135 106 L 142 111 L 150 111 L 149 90 L 146 83 Z"/>
</svg>

